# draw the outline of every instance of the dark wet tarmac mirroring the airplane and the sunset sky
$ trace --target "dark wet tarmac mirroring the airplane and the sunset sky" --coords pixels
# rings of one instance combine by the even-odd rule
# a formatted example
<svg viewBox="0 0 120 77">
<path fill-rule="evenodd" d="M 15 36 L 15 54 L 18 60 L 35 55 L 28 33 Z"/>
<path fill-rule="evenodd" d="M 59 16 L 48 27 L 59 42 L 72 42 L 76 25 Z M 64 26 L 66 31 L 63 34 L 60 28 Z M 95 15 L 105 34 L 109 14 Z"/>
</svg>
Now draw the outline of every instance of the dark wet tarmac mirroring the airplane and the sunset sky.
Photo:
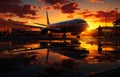
<svg viewBox="0 0 120 77">
<path fill-rule="evenodd" d="M 119 37 L 0 42 L 0 77 L 86 77 L 119 67 Z"/>
</svg>

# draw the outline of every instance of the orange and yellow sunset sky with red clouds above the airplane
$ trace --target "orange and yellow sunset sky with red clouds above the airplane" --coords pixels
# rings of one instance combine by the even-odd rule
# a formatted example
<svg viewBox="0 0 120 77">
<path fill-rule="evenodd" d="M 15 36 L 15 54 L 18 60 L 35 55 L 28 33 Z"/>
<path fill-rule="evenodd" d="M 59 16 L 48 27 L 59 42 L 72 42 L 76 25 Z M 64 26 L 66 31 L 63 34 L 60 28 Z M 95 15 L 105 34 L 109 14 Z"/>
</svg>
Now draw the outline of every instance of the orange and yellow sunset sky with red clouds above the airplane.
<svg viewBox="0 0 120 77">
<path fill-rule="evenodd" d="M 120 0 L 0 0 L 0 18 L 36 25 L 46 24 L 45 11 L 50 22 L 60 22 L 73 18 L 85 19 L 90 28 L 112 26 L 120 17 Z"/>
</svg>

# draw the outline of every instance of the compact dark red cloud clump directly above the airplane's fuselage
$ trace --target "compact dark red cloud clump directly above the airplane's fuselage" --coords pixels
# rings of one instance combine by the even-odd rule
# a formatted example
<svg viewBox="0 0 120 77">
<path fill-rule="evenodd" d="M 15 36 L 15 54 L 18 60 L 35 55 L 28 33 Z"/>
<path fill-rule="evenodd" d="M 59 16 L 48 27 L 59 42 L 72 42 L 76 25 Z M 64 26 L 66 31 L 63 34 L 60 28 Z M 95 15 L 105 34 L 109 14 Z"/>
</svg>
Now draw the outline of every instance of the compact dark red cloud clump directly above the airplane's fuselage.
<svg viewBox="0 0 120 77">
<path fill-rule="evenodd" d="M 61 10 L 62 10 L 62 13 L 74 13 L 75 10 L 79 10 L 80 8 L 77 8 L 78 7 L 78 3 L 76 2 L 73 2 L 73 3 L 69 3 L 69 4 L 66 4 L 64 6 L 61 7 Z"/>
</svg>

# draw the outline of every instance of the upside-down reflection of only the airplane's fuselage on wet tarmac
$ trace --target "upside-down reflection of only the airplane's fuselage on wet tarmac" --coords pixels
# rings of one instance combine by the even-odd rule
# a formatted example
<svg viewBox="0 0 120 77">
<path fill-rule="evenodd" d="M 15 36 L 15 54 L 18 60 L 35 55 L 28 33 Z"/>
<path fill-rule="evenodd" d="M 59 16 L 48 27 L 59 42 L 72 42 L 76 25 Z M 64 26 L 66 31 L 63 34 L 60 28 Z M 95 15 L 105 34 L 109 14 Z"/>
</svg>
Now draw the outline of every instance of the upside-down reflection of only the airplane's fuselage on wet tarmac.
<svg viewBox="0 0 120 77">
<path fill-rule="evenodd" d="M 74 59 L 83 59 L 85 57 L 87 57 L 87 54 L 89 53 L 89 51 L 87 51 L 85 48 L 80 48 L 80 47 L 74 47 L 74 46 L 66 46 L 63 45 L 62 46 L 58 46 L 58 44 L 54 44 L 52 45 L 52 47 L 48 48 L 48 52 L 52 51 L 52 52 L 56 52 L 59 54 L 62 54 L 64 56 L 70 57 L 70 58 L 74 58 Z"/>
</svg>

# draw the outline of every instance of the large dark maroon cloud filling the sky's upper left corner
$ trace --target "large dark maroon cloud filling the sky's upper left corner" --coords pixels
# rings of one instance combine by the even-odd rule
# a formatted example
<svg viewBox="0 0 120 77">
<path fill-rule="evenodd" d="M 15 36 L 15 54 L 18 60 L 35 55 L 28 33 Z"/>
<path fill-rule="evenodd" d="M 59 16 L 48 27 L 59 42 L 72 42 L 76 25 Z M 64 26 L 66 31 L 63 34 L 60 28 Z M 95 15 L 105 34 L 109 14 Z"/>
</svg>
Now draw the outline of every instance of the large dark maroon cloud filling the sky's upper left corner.
<svg viewBox="0 0 120 77">
<path fill-rule="evenodd" d="M 0 0 L 0 13 L 12 13 L 19 17 L 26 14 L 37 15 L 32 5 L 24 5 L 21 0 Z"/>
</svg>

